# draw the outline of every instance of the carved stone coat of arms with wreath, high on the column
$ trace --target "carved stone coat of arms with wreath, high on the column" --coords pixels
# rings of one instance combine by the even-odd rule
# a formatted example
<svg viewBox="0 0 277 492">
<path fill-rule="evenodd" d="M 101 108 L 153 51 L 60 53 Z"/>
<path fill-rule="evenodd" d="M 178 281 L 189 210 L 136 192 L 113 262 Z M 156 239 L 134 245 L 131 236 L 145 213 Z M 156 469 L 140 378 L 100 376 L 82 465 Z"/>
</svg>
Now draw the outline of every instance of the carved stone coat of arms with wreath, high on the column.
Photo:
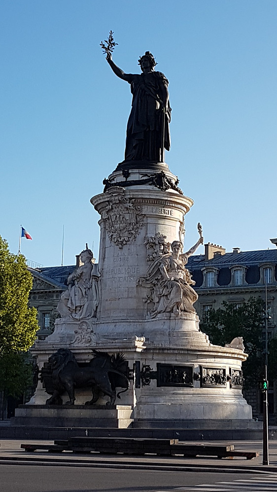
<svg viewBox="0 0 277 492">
<path fill-rule="evenodd" d="M 120 249 L 129 241 L 134 241 L 144 223 L 141 208 L 134 205 L 134 199 L 126 198 L 124 190 L 112 188 L 105 209 L 107 234 L 111 242 Z"/>
</svg>

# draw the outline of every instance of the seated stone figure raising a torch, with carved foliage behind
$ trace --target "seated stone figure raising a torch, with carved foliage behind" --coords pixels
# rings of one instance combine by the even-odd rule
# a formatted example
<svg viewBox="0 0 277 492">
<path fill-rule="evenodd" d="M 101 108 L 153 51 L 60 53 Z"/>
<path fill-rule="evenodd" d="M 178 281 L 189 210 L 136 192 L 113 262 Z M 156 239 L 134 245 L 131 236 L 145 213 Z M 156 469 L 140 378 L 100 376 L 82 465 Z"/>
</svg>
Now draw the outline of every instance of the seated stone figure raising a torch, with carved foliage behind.
<svg viewBox="0 0 277 492">
<path fill-rule="evenodd" d="M 173 241 L 171 244 L 172 252 L 167 251 L 165 239 L 161 241 L 160 255 L 153 257 L 155 251 L 155 236 L 148 237 L 144 241 L 147 253 L 150 249 L 154 253 L 148 253 L 147 259 L 150 262 L 146 275 L 138 279 L 138 286 L 146 288 L 145 302 L 148 304 L 148 314 L 154 318 L 161 313 L 173 313 L 180 316 L 182 312 L 196 313 L 193 304 L 198 299 L 198 295 L 191 287 L 195 285 L 189 271 L 185 265 L 200 244 L 203 244 L 202 227 L 198 224 L 200 238 L 197 243 L 186 253 L 182 253 L 183 245 L 180 241 Z M 166 236 L 163 235 L 163 238 Z M 152 259 L 154 261 L 152 261 Z"/>
</svg>

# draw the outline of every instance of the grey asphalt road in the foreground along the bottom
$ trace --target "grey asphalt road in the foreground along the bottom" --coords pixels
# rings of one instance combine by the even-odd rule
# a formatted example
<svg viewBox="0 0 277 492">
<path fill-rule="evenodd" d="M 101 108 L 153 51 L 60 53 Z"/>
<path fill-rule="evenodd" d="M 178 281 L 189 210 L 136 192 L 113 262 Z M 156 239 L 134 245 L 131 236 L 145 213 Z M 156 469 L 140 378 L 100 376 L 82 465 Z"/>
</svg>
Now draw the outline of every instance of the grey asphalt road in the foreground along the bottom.
<svg viewBox="0 0 277 492">
<path fill-rule="evenodd" d="M 243 481 L 268 480 L 264 474 L 161 472 L 119 470 L 105 468 L 82 468 L 64 466 L 0 465 L 1 492 L 181 492 L 176 488 L 195 491 L 194 486 L 207 484 L 202 490 L 230 490 L 227 486 L 213 484 Z M 243 482 L 241 483 L 243 484 Z M 274 484 L 274 478 L 271 479 Z M 277 484 L 277 475 L 276 475 Z M 219 487 L 219 488 L 218 488 Z M 227 487 L 227 488 L 226 488 Z M 277 491 L 277 487 L 271 491 Z M 189 489 L 188 489 L 189 488 Z M 201 489 L 200 489 L 201 490 Z M 239 489 L 244 490 L 241 485 Z M 245 489 L 246 490 L 246 489 Z M 249 490 L 249 489 L 248 489 Z M 261 486 L 252 488 L 260 492 Z M 268 489 L 266 489 L 268 490 Z"/>
</svg>

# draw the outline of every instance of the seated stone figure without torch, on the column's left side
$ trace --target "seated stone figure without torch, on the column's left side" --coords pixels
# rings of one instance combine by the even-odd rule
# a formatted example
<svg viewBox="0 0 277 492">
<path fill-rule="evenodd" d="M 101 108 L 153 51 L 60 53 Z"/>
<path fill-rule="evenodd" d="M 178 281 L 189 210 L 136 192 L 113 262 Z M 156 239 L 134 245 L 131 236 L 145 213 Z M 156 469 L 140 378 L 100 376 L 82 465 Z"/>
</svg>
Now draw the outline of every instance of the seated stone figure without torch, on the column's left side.
<svg viewBox="0 0 277 492">
<path fill-rule="evenodd" d="M 61 295 L 57 307 L 62 318 L 82 320 L 96 316 L 99 304 L 99 272 L 92 259 L 93 253 L 90 249 L 87 248 L 80 253 L 80 260 L 84 264 L 69 275 L 69 288 Z"/>
</svg>

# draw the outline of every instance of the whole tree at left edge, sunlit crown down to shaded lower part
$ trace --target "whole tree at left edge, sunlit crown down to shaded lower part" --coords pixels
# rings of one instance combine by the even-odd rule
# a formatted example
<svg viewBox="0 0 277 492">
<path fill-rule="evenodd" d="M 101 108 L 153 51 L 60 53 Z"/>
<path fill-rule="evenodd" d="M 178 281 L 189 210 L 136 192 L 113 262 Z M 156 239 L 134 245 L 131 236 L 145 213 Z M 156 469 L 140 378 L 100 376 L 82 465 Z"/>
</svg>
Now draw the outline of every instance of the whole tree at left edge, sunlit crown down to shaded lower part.
<svg viewBox="0 0 277 492">
<path fill-rule="evenodd" d="M 0 392 L 1 417 L 8 395 L 19 396 L 30 384 L 30 364 L 24 352 L 39 329 L 36 309 L 28 307 L 33 278 L 22 255 L 9 252 L 0 236 Z"/>
</svg>

